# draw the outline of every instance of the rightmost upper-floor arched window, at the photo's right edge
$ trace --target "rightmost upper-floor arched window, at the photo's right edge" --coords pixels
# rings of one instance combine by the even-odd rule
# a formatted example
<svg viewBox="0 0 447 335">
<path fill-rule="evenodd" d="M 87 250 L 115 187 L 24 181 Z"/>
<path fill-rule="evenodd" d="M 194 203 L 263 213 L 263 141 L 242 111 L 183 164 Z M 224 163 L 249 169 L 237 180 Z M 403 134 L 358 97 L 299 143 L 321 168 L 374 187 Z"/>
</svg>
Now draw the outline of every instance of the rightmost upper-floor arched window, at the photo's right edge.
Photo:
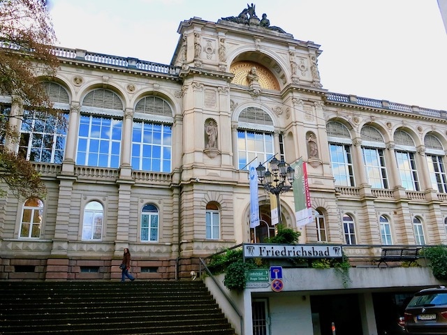
<svg viewBox="0 0 447 335">
<path fill-rule="evenodd" d="M 434 135 L 427 134 L 424 139 L 425 157 L 427 158 L 428 170 L 432 188 L 439 193 L 447 193 L 447 174 L 444 165 L 444 148 Z"/>
</svg>

